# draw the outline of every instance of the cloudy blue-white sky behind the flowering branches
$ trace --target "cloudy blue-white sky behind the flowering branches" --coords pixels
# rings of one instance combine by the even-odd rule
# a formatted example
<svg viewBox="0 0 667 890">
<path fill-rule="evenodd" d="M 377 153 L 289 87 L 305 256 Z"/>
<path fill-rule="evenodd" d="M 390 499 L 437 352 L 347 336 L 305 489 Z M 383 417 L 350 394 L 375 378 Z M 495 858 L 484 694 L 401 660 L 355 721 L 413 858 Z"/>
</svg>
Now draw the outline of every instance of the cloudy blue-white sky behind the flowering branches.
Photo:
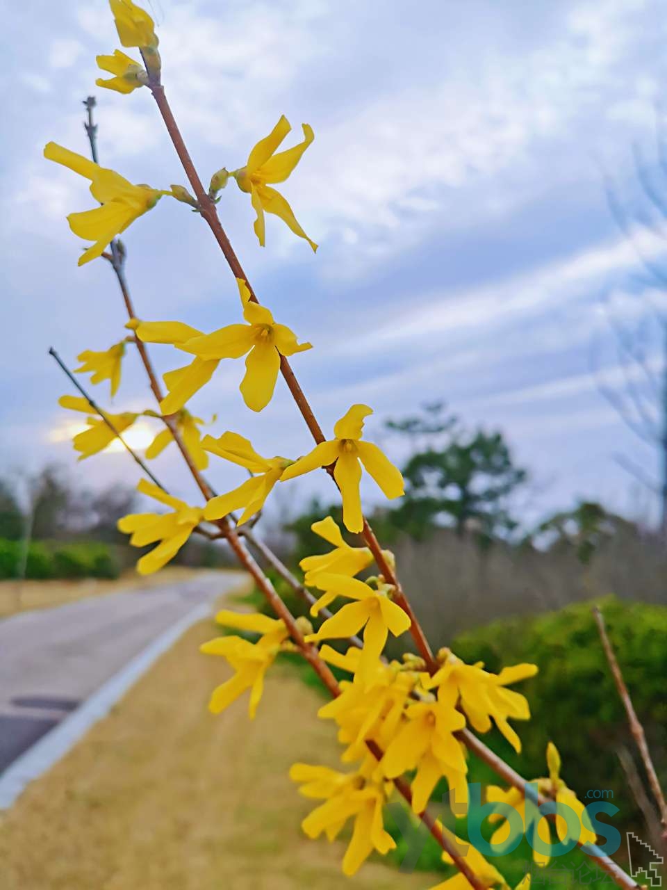
<svg viewBox="0 0 667 890">
<path fill-rule="evenodd" d="M 628 373 L 650 413 L 650 378 L 661 373 L 652 328 L 664 299 L 611 221 L 603 179 L 612 174 L 623 202 L 650 221 L 634 185 L 637 145 L 651 182 L 667 192 L 655 157 L 667 82 L 663 5 L 147 7 L 159 26 L 165 89 L 203 179 L 242 166 L 280 114 L 294 140 L 302 121 L 314 128 L 283 191 L 319 243 L 317 256 L 275 217 L 259 247 L 250 203 L 234 183 L 219 209 L 261 300 L 315 346 L 293 367 L 325 429 L 365 401 L 375 410 L 369 438 L 399 458 L 382 420 L 445 400 L 470 426 L 506 433 L 532 471 L 536 513 L 581 497 L 650 515 L 655 502 L 617 456 L 653 474 L 655 452 L 619 420 L 591 367 L 621 394 Z M 48 347 L 71 364 L 125 333 L 107 263 L 76 267 L 82 244 L 65 216 L 92 206 L 86 183 L 44 161 L 44 143 L 85 152 L 81 101 L 95 93 L 103 166 L 161 188 L 185 178 L 149 91 L 94 86 L 96 53 L 118 45 L 104 0 L 6 4 L 3 20 L 0 466 L 12 474 L 46 461 L 75 465 L 65 435 L 72 418 L 57 406 L 68 384 Z M 204 330 L 238 320 L 234 279 L 187 207 L 163 199 L 125 244 L 142 318 Z M 638 247 L 660 263 L 655 234 L 640 232 Z M 610 319 L 638 333 L 646 369 L 623 368 Z M 156 347 L 156 360 L 163 371 L 182 364 L 169 347 Z M 242 373 L 242 362 L 224 363 L 193 402 L 203 416 L 217 413 L 212 432 L 243 433 L 268 455 L 309 449 L 284 385 L 254 415 L 237 391 Z M 133 359 L 113 405 L 102 394 L 113 409 L 152 407 Z M 175 455 L 165 452 L 156 469 L 192 495 Z M 90 485 L 135 480 L 132 463 L 114 452 L 75 472 Z M 212 478 L 222 489 L 243 477 L 218 464 Z M 309 484 L 290 483 L 282 497 L 293 502 Z"/>
</svg>

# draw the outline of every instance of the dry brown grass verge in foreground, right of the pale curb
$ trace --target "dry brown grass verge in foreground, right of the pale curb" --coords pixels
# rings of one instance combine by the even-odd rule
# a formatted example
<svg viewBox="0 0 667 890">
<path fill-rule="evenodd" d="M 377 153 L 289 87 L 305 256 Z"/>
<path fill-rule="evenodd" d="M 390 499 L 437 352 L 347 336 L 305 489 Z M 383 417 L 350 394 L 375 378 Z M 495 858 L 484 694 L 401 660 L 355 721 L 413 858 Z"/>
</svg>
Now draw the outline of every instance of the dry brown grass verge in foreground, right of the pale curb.
<svg viewBox="0 0 667 890">
<path fill-rule="evenodd" d="M 0 817 L 2 890 L 334 890 L 343 845 L 300 829 L 312 802 L 297 760 L 334 765 L 317 693 L 274 667 L 254 722 L 247 702 L 213 717 L 227 675 L 193 627 L 107 719 Z M 369 862 L 350 887 L 423 890 L 430 875 Z"/>
</svg>

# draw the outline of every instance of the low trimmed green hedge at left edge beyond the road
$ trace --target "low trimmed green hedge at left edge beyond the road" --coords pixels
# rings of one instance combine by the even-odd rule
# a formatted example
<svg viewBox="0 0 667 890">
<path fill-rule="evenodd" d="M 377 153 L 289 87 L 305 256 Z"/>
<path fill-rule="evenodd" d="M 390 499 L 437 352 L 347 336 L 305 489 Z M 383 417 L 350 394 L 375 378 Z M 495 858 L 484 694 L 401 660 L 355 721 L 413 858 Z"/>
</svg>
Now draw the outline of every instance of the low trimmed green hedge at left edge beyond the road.
<svg viewBox="0 0 667 890">
<path fill-rule="evenodd" d="M 0 579 L 18 578 L 23 558 L 20 541 L 0 538 Z M 28 546 L 26 578 L 117 578 L 117 560 L 103 544 L 47 545 L 32 541 Z"/>
</svg>

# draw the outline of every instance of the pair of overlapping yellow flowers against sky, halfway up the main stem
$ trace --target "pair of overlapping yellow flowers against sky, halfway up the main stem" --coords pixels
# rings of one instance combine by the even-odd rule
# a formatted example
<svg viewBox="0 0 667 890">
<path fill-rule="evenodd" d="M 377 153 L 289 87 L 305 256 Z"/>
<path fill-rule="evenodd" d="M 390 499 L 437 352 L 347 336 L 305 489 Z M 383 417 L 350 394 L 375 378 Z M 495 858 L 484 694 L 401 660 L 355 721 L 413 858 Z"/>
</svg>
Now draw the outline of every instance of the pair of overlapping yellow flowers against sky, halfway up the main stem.
<svg viewBox="0 0 667 890">
<path fill-rule="evenodd" d="M 245 376 L 240 390 L 248 408 L 261 411 L 273 395 L 280 356 L 312 348 L 309 343 L 299 344 L 290 328 L 276 324 L 266 307 L 252 303 L 243 279 L 237 279 L 237 286 L 247 321 L 245 325 L 228 325 L 206 335 L 180 321 L 143 321 L 137 328 L 137 336 L 145 343 L 171 343 L 182 352 L 197 356 L 186 368 L 165 374 L 165 384 L 170 391 L 160 405 L 165 414 L 182 408 L 208 383 L 222 359 L 240 359 L 246 352 Z"/>
</svg>

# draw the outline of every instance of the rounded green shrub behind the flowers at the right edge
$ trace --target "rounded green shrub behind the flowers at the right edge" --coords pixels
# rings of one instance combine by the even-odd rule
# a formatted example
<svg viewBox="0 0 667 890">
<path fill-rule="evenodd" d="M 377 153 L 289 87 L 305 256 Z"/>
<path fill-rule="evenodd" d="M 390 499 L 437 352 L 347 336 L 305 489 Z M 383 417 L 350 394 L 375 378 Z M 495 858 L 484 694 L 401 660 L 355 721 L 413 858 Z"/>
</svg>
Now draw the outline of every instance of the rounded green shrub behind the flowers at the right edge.
<svg viewBox="0 0 667 890">
<path fill-rule="evenodd" d="M 526 694 L 532 711 L 529 724 L 517 724 L 522 754 L 514 755 L 497 734 L 485 740 L 527 778 L 544 774 L 544 751 L 553 740 L 563 757 L 567 784 L 582 797 L 589 790 L 611 792 L 621 811 L 614 823 L 629 829 L 640 824 L 640 815 L 616 752 L 624 745 L 634 754 L 635 746 L 591 605 L 578 603 L 534 619 L 494 622 L 458 636 L 453 649 L 462 659 L 484 661 L 493 671 L 523 661 L 540 668 L 534 679 L 517 687 Z M 667 736 L 667 608 L 621 602 L 615 597 L 607 597 L 599 605 L 655 765 L 663 780 L 667 779 L 663 755 Z M 481 781 L 487 779 L 491 777 Z"/>
</svg>

